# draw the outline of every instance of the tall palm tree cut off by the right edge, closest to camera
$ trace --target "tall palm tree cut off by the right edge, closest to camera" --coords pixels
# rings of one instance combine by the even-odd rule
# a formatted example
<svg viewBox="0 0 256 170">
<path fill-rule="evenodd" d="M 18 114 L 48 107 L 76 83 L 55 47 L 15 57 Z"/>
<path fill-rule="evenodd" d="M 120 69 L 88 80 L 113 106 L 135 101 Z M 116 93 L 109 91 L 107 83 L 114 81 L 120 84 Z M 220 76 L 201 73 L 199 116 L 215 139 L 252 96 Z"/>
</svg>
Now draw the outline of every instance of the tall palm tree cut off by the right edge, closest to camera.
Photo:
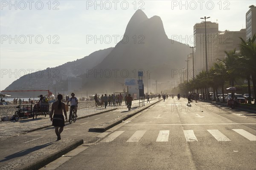
<svg viewBox="0 0 256 170">
<path fill-rule="evenodd" d="M 254 90 L 254 96 L 256 96 L 256 35 L 253 35 L 252 38 L 249 38 L 249 40 L 246 42 L 243 38 L 239 37 L 241 39 L 241 43 L 239 44 L 239 47 L 241 49 L 241 55 L 239 58 L 240 65 L 244 66 L 244 69 L 246 69 L 246 78 L 248 81 L 248 93 L 249 93 L 249 102 L 251 99 L 251 90 L 250 90 L 250 76 L 252 77 L 253 81 L 253 90 Z M 254 102 L 256 104 L 256 102 Z"/>
</svg>

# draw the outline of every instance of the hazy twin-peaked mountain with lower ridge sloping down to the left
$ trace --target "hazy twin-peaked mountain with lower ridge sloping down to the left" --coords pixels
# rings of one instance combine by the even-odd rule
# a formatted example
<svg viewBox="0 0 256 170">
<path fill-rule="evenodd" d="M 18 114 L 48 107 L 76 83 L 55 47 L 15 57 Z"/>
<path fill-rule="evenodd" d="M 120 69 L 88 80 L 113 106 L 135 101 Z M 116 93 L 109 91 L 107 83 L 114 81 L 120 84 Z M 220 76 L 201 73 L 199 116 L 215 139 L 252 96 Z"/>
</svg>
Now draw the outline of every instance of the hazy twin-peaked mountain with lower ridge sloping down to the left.
<svg viewBox="0 0 256 170">
<path fill-rule="evenodd" d="M 137 10 L 128 22 L 122 40 L 114 48 L 99 50 L 77 61 L 47 69 L 58 69 L 56 91 L 68 90 L 63 76 L 82 78 L 81 90 L 113 91 L 113 82 L 124 83 L 125 78 L 137 78 L 137 71 L 141 69 L 145 77 L 147 70 L 151 72 L 151 80 L 171 81 L 172 69 L 185 66 L 190 52 L 188 45 L 168 39 L 160 17 L 148 18 L 142 10 Z M 40 86 L 52 90 L 56 78 L 49 78 L 47 69 L 43 78 L 37 78 L 35 73 L 25 75 L 6 90 L 29 90 Z"/>
</svg>

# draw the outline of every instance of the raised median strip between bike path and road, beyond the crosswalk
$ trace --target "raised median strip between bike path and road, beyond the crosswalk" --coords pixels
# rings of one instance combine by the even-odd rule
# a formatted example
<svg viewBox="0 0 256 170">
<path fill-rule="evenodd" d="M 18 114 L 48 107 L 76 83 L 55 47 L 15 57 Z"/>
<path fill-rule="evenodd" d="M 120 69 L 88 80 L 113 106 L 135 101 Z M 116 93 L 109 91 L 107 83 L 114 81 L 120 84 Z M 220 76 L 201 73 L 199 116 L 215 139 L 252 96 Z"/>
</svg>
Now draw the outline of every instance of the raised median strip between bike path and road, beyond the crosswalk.
<svg viewBox="0 0 256 170">
<path fill-rule="evenodd" d="M 106 124 L 108 124 L 108 125 L 105 125 L 105 126 L 102 126 L 102 127 L 100 127 L 101 125 L 98 125 L 98 126 L 96 126 L 96 127 L 90 128 L 90 129 L 89 129 L 89 132 L 101 132 L 101 133 L 102 133 L 102 132 L 105 132 L 106 130 L 110 129 L 111 127 L 114 127 L 114 126 L 116 126 L 117 124 L 122 123 L 122 121 L 125 121 L 125 120 L 128 119 L 128 118 L 131 118 L 132 116 L 134 116 L 134 115 L 138 114 L 139 112 L 141 112 L 141 111 L 147 109 L 148 107 L 151 107 L 151 106 L 154 105 L 154 104 L 157 104 L 158 102 L 160 102 L 160 101 L 162 101 L 162 100 L 163 100 L 163 99 L 161 99 L 161 100 L 159 100 L 159 101 L 157 101 L 157 102 L 155 102 L 155 103 L 153 103 L 153 104 L 148 104 L 148 106 L 145 106 L 144 108 L 142 108 L 142 109 L 140 109 L 140 110 L 138 110 L 138 111 L 136 111 L 136 112 L 134 112 L 134 113 L 132 113 L 132 114 L 125 115 L 123 118 L 121 118 L 121 119 L 119 119 L 119 120 L 117 120 L 117 121 L 114 121 L 114 122 L 108 121 L 108 122 L 106 122 Z"/>
</svg>

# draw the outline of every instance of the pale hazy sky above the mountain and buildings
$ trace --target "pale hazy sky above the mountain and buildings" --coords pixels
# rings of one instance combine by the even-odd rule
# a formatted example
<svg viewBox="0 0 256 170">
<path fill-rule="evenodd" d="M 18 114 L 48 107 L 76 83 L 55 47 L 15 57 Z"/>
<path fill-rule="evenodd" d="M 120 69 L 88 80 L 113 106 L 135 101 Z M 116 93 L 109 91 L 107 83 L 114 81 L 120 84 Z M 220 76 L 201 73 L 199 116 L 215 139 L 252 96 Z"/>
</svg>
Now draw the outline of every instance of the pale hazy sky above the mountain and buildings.
<svg viewBox="0 0 256 170">
<path fill-rule="evenodd" d="M 192 46 L 200 17 L 219 30 L 245 28 L 245 13 L 255 0 L 1 0 L 0 90 L 25 73 L 83 58 L 114 47 L 137 9 L 160 16 L 169 39 Z M 178 37 L 178 38 L 177 38 Z"/>
</svg>

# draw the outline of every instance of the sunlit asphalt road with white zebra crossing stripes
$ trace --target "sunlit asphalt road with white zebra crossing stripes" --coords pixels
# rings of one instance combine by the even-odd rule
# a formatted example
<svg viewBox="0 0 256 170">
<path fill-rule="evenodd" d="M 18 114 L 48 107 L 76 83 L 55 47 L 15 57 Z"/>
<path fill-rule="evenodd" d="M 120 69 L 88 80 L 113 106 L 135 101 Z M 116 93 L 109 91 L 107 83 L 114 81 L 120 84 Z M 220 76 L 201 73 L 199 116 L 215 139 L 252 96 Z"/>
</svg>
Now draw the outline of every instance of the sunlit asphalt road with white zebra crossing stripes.
<svg viewBox="0 0 256 170">
<path fill-rule="evenodd" d="M 256 114 L 204 102 L 169 98 L 99 135 L 42 170 L 256 169 Z"/>
</svg>

